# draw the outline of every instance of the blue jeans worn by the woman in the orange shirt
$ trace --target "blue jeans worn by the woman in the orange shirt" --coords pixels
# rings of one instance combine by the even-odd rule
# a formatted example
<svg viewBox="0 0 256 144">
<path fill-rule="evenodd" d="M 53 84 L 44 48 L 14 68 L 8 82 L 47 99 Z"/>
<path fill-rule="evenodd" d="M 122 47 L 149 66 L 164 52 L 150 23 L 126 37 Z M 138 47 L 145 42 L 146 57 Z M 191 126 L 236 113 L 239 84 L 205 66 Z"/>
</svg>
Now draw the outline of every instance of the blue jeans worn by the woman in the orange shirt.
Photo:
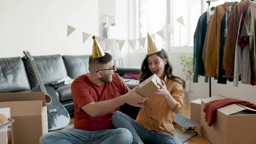
<svg viewBox="0 0 256 144">
<path fill-rule="evenodd" d="M 149 131 L 140 123 L 136 122 L 126 114 L 116 111 L 112 116 L 112 123 L 115 128 L 126 128 L 133 136 L 132 144 L 154 143 L 154 144 L 182 144 L 173 135 L 164 132 Z"/>
</svg>

